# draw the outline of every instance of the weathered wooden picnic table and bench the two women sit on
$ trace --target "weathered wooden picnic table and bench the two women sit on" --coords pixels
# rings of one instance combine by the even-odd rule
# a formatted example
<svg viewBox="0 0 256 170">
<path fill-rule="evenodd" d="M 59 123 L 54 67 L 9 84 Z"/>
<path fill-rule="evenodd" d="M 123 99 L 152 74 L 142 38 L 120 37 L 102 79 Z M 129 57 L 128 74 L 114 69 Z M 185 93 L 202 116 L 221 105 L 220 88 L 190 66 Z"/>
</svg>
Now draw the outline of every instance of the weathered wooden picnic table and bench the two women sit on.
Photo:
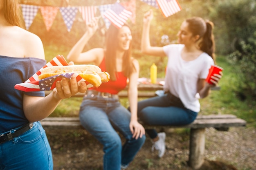
<svg viewBox="0 0 256 170">
<path fill-rule="evenodd" d="M 160 84 L 139 83 L 138 97 L 154 97 L 155 91 L 162 90 Z M 220 90 L 220 87 L 213 87 L 212 90 Z M 45 95 L 50 92 L 45 91 Z M 78 93 L 74 97 L 83 97 L 84 93 Z M 127 88 L 118 93 L 119 97 L 127 97 Z M 44 128 L 61 128 L 61 129 L 84 129 L 79 121 L 79 117 L 47 117 L 41 121 Z M 198 169 L 204 162 L 205 148 L 205 128 L 216 128 L 217 130 L 227 131 L 229 127 L 245 126 L 246 121 L 239 119 L 234 115 L 198 115 L 197 119 L 185 126 L 150 126 L 141 124 L 145 128 L 190 128 L 190 147 L 189 147 L 189 166 Z"/>
</svg>

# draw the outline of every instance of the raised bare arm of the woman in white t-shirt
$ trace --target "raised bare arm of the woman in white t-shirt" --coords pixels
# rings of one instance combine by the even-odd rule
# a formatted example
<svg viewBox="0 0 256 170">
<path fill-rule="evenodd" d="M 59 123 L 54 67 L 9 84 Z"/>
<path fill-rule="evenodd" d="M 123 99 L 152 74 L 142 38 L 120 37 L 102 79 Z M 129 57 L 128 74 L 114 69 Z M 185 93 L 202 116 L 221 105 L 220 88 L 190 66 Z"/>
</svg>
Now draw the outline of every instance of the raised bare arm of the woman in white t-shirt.
<svg viewBox="0 0 256 170">
<path fill-rule="evenodd" d="M 143 19 L 143 31 L 141 38 L 141 52 L 148 55 L 156 56 L 165 56 L 164 50 L 162 47 L 156 47 L 150 45 L 149 30 L 150 22 L 153 19 L 153 11 L 150 10 L 144 15 Z"/>
</svg>

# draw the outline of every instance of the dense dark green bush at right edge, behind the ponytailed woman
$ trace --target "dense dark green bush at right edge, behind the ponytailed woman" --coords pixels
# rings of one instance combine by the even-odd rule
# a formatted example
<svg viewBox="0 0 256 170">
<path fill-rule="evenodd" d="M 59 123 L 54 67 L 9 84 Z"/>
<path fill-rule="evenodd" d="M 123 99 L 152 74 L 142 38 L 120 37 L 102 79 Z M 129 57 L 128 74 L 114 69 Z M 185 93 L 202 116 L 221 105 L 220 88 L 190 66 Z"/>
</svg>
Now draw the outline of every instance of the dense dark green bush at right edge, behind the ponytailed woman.
<svg viewBox="0 0 256 170">
<path fill-rule="evenodd" d="M 244 100 L 256 99 L 256 3 L 255 0 L 220 0 L 212 18 L 222 36 L 217 44 L 236 73 L 234 91 Z M 225 48 L 218 48 L 224 46 Z"/>
</svg>

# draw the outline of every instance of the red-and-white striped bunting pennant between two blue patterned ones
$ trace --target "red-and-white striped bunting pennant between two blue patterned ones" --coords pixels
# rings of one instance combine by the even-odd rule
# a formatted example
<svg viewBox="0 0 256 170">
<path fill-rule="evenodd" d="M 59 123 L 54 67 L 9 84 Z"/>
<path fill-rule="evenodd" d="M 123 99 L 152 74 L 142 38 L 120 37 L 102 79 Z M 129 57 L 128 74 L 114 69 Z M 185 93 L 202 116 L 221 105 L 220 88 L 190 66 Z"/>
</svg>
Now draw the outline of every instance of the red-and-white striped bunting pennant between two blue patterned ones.
<svg viewBox="0 0 256 170">
<path fill-rule="evenodd" d="M 78 7 L 85 23 L 89 23 L 97 12 L 97 6 Z"/>
</svg>

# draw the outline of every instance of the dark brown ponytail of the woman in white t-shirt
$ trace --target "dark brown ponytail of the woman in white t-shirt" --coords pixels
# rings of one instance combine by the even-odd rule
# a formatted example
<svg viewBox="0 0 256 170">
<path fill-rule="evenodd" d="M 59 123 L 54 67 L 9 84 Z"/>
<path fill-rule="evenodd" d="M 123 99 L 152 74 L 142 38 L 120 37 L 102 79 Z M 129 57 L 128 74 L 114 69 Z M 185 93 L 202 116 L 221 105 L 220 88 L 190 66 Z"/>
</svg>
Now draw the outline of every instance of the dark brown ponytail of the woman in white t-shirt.
<svg viewBox="0 0 256 170">
<path fill-rule="evenodd" d="M 210 55 L 215 61 L 215 42 L 213 36 L 213 23 L 210 21 L 206 22 L 206 32 L 202 37 L 202 41 L 199 44 L 200 49 Z"/>
</svg>

